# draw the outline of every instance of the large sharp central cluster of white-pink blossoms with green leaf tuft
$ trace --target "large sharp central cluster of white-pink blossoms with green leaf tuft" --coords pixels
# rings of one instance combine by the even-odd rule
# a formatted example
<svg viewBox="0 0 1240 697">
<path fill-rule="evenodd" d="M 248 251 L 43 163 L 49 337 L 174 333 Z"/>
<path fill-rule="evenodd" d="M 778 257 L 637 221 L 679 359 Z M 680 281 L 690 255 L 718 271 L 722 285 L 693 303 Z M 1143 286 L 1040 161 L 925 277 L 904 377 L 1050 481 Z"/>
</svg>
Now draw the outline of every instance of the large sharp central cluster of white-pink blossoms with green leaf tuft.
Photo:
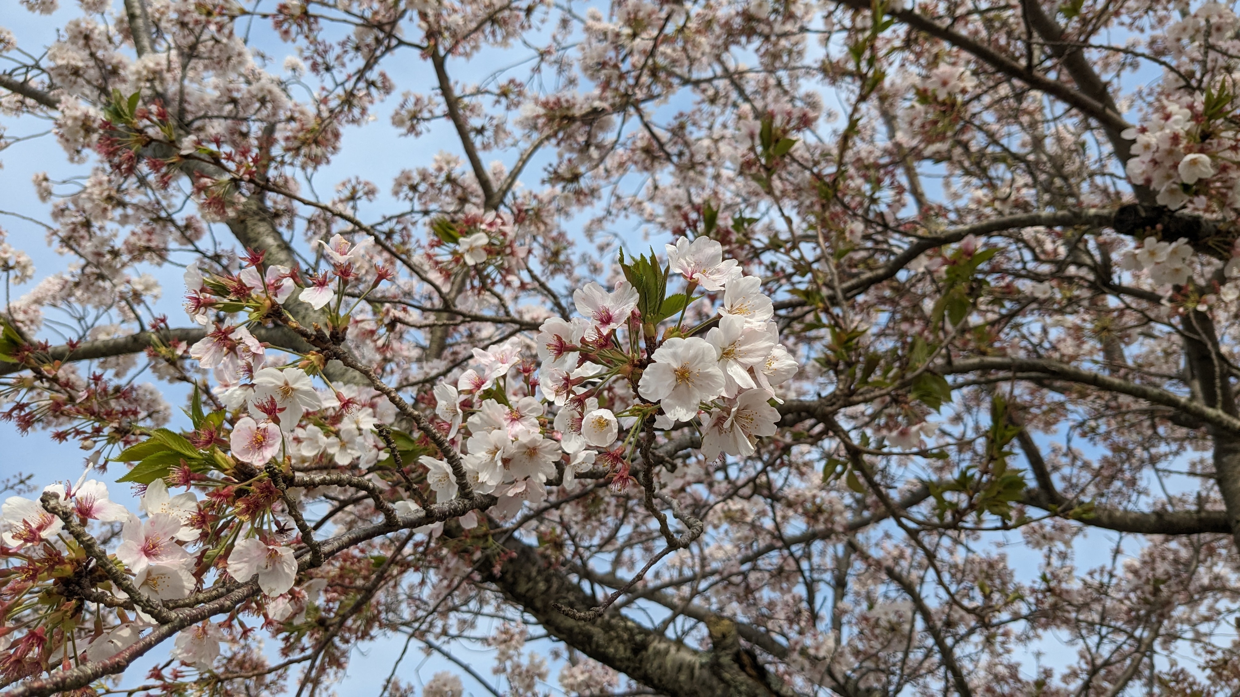
<svg viewBox="0 0 1240 697">
<path fill-rule="evenodd" d="M 435 386 L 439 427 L 464 446 L 475 489 L 500 497 L 498 515 L 539 504 L 549 480 L 572 487 L 595 466 L 624 486 L 647 422 L 662 429 L 694 422 L 709 460 L 750 455 L 758 438 L 775 433 L 774 388 L 797 363 L 779 344 L 761 279 L 744 275 L 706 237 L 668 244 L 667 259 L 665 269 L 626 265 L 634 283 L 620 280 L 610 291 L 598 283 L 574 291 L 579 315 L 543 321 L 537 366 L 508 340 L 475 348 L 472 367 Z M 665 298 L 672 273 L 687 289 Z M 703 294 L 694 296 L 697 289 Z M 689 304 L 720 295 L 707 321 L 683 327 Z M 671 309 L 680 321 L 660 335 L 658 325 L 676 319 L 665 308 L 671 298 L 678 298 Z M 424 456 L 423 464 L 440 500 L 454 496 L 446 463 Z"/>
</svg>

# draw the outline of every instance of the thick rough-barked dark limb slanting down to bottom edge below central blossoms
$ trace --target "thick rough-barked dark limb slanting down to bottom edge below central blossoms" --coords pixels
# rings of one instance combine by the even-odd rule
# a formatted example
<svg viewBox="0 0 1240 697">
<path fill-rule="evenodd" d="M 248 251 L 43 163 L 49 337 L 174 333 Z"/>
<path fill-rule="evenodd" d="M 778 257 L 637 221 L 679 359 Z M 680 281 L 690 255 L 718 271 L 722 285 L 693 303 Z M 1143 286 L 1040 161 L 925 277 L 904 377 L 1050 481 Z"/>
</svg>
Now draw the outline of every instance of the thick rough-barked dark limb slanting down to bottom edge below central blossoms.
<svg viewBox="0 0 1240 697">
<path fill-rule="evenodd" d="M 578 621 L 554 606 L 587 610 L 596 603 L 563 573 L 551 569 L 528 544 L 510 537 L 512 554 L 498 574 L 489 575 L 513 603 L 547 631 L 587 656 L 671 697 L 770 697 L 792 695 L 776 678 L 764 685 L 746 675 L 730 656 L 697 651 L 651 631 L 619 611 L 594 621 Z"/>
</svg>

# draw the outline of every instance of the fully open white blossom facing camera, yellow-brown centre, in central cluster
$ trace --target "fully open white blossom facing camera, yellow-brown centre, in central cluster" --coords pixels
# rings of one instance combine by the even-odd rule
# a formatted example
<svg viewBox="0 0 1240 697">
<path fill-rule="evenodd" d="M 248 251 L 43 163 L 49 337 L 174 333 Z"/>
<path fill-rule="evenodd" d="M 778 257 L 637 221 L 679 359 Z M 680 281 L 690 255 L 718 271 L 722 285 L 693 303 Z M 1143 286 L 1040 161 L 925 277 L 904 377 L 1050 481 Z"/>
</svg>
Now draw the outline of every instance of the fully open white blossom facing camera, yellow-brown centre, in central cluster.
<svg viewBox="0 0 1240 697">
<path fill-rule="evenodd" d="M 701 402 L 723 394 L 718 352 L 704 339 L 668 339 L 651 356 L 637 383 L 637 394 L 658 402 L 663 413 L 678 422 L 697 415 Z"/>
</svg>

